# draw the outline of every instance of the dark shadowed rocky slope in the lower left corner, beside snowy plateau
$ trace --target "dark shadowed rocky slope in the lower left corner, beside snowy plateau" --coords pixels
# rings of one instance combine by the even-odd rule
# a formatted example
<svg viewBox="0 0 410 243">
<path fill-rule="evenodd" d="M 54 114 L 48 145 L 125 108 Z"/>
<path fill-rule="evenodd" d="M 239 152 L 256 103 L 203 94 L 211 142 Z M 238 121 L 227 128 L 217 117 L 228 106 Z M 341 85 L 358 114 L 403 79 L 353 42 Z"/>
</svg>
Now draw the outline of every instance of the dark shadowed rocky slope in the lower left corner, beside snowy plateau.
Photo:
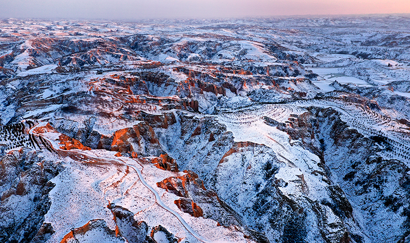
<svg viewBox="0 0 410 243">
<path fill-rule="evenodd" d="M 29 149 L 10 152 L 0 163 L 0 241 L 45 242 L 53 234 L 52 225 L 43 225 L 54 187 L 49 180 L 61 168 Z"/>
</svg>

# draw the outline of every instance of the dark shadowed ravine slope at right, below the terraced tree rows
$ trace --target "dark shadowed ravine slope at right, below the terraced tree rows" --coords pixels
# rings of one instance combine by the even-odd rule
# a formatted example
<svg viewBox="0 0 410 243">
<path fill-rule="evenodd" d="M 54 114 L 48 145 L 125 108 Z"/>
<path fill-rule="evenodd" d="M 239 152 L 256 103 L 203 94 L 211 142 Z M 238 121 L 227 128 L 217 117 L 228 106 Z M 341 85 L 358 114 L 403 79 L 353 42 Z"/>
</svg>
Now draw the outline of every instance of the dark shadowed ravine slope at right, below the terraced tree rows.
<svg viewBox="0 0 410 243">
<path fill-rule="evenodd" d="M 331 108 L 312 107 L 308 113 L 290 120 L 290 127 L 278 125 L 278 128 L 321 158 L 321 166 L 335 188 L 343 191 L 334 210 L 338 216 L 356 218 L 360 228 L 373 241 L 405 237 L 408 232 L 408 165 L 380 157 L 378 152 L 388 148 L 389 141 L 361 135 L 350 129 L 339 115 Z M 332 194 L 338 197 L 340 193 Z M 383 223 L 371 224 L 375 221 Z M 378 232 L 380 227 L 382 233 Z M 354 232 L 351 237 L 357 242 L 366 242 Z"/>
</svg>

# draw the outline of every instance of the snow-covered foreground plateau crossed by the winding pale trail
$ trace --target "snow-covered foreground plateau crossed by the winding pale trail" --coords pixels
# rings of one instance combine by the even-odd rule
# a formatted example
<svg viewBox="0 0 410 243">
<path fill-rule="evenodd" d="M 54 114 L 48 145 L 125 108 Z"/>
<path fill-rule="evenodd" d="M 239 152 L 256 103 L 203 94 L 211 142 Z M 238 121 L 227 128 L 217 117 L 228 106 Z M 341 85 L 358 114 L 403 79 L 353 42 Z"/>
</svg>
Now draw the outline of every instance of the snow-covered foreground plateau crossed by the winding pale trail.
<svg viewBox="0 0 410 243">
<path fill-rule="evenodd" d="M 31 131 L 45 124 L 40 123 Z M 60 150 L 56 141 L 58 133 L 39 135 Z M 157 182 L 175 176 L 175 172 L 158 170 L 152 164 L 141 165 L 129 158 L 114 159 L 115 152 L 110 151 L 62 152 L 71 156 L 64 159 L 65 170 L 52 179 L 56 186 L 50 192 L 52 206 L 45 215 L 45 222 L 51 223 L 58 233 L 52 235 L 49 243 L 59 242 L 71 228 L 96 218 L 104 219 L 114 230 L 112 213 L 107 208 L 109 203 L 127 207 L 137 220 L 144 220 L 148 225 L 160 224 L 190 242 L 246 242 L 243 234 L 216 227 L 214 220 L 181 212 L 173 203 L 179 197 L 156 186 Z M 59 160 L 57 156 L 55 160 Z"/>
</svg>

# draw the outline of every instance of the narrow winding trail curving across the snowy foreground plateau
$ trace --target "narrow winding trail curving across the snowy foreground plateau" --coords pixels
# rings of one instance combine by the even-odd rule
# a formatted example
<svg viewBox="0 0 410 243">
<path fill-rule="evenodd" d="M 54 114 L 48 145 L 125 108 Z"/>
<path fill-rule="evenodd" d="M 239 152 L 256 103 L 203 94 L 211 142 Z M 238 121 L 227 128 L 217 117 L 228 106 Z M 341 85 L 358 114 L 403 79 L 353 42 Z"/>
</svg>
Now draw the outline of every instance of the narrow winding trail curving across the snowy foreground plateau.
<svg viewBox="0 0 410 243">
<path fill-rule="evenodd" d="M 38 126 L 38 125 L 37 125 L 37 126 Z M 37 126 L 32 127 L 32 128 L 29 130 L 29 134 L 33 135 L 33 134 L 34 134 L 34 133 L 33 133 L 33 129 L 34 129 L 35 127 L 37 127 Z M 109 160 L 109 161 L 113 161 L 113 162 L 116 162 L 116 163 L 118 163 L 118 164 L 126 165 L 126 166 L 129 166 L 129 167 L 133 168 L 133 169 L 135 170 L 135 172 L 137 173 L 138 179 L 141 181 L 141 183 L 142 183 L 148 190 L 150 190 L 152 193 L 154 193 L 154 195 L 155 195 L 155 202 L 156 202 L 161 208 L 165 209 L 166 211 L 170 212 L 170 213 L 173 214 L 175 217 L 177 217 L 178 220 L 179 220 L 179 222 L 182 224 L 182 226 L 183 226 L 185 229 L 187 229 L 187 231 L 190 232 L 192 236 L 194 236 L 196 239 L 198 239 L 199 241 L 204 242 L 204 243 L 216 242 L 216 241 L 211 241 L 211 240 L 208 240 L 208 239 L 203 238 L 202 236 L 200 236 L 198 233 L 196 233 L 196 232 L 191 228 L 191 226 L 189 226 L 189 225 L 187 224 L 187 222 L 185 222 L 185 220 L 184 220 L 177 212 L 175 212 L 174 210 L 172 210 L 171 208 L 169 208 L 168 206 L 166 206 L 166 205 L 162 202 L 162 200 L 161 200 L 161 198 L 160 198 L 158 192 L 157 192 L 154 188 L 152 188 L 150 185 L 148 185 L 148 183 L 144 180 L 144 177 L 142 176 L 141 171 L 140 171 L 137 167 L 135 167 L 134 165 L 125 163 L 124 161 L 120 161 L 120 160 L 117 160 L 117 159 L 92 156 L 92 155 L 90 155 L 90 154 L 88 154 L 88 153 L 81 152 L 81 151 L 61 150 L 59 147 L 56 148 L 56 147 L 53 145 L 53 142 L 50 141 L 48 138 L 43 137 L 43 136 L 40 136 L 39 134 L 35 134 L 35 135 L 36 135 L 36 136 L 39 136 L 39 137 L 42 137 L 43 139 L 45 139 L 45 140 L 50 144 L 50 146 L 51 146 L 58 154 L 60 154 L 60 155 L 69 156 L 69 153 L 72 153 L 72 154 L 81 154 L 82 156 L 85 156 L 85 157 L 88 157 L 88 158 L 91 158 L 91 159 Z M 218 242 L 220 242 L 220 241 L 218 241 Z"/>
</svg>

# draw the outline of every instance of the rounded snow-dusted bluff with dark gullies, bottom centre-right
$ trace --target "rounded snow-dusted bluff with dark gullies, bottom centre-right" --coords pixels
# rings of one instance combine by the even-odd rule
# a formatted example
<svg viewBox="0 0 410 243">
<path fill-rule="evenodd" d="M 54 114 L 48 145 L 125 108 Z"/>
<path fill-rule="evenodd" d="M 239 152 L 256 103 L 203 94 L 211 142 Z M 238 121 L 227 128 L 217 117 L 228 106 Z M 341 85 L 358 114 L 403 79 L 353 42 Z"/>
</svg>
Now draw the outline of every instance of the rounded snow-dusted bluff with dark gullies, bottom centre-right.
<svg viewBox="0 0 410 243">
<path fill-rule="evenodd" d="M 282 163 L 269 147 L 235 143 L 217 167 L 215 187 L 235 211 L 243 212 L 240 216 L 252 230 L 263 232 L 271 242 L 278 238 L 281 242 L 348 242 L 343 220 L 329 206 L 307 196 L 310 188 L 303 174 L 292 181 L 301 197 L 296 201 L 296 191 L 286 192 L 290 185 L 277 175 Z"/>
</svg>

